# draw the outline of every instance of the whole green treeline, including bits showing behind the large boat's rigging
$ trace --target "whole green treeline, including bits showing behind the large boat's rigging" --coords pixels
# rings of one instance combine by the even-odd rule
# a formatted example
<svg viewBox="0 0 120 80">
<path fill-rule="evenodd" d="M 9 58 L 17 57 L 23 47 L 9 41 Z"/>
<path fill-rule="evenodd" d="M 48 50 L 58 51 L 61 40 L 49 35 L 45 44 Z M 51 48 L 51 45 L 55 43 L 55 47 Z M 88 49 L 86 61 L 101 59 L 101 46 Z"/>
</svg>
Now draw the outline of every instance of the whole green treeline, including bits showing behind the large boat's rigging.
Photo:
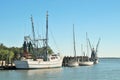
<svg viewBox="0 0 120 80">
<path fill-rule="evenodd" d="M 50 47 L 48 49 L 48 54 L 53 54 L 54 52 Z M 44 47 L 38 48 L 40 54 L 44 54 Z M 22 47 L 6 47 L 4 44 L 0 43 L 0 61 L 5 61 L 11 63 L 14 60 L 20 59 L 23 55 L 24 49 Z"/>
</svg>

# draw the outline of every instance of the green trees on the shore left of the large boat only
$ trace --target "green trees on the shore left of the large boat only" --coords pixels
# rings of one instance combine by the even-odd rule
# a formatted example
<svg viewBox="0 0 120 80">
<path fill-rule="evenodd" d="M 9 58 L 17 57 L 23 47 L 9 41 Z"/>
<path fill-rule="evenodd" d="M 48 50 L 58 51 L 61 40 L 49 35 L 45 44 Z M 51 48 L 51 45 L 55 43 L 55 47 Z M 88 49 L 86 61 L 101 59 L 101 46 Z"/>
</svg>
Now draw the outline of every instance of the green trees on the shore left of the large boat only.
<svg viewBox="0 0 120 80">
<path fill-rule="evenodd" d="M 12 63 L 13 60 L 18 58 L 18 55 L 20 53 L 22 53 L 22 47 L 18 48 L 18 47 L 6 47 L 5 45 L 3 45 L 2 43 L 0 43 L 0 61 L 1 64 L 3 64 L 3 61 L 5 61 L 5 63 Z"/>
</svg>

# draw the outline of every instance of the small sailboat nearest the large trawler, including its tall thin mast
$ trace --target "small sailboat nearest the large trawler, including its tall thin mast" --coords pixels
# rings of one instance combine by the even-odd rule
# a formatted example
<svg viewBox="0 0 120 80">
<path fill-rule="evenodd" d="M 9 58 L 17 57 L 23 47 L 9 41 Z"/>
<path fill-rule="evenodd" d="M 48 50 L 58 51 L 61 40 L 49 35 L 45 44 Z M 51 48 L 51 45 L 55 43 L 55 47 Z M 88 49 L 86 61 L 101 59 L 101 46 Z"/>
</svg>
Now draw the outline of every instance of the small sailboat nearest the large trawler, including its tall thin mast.
<svg viewBox="0 0 120 80">
<path fill-rule="evenodd" d="M 77 61 L 77 57 L 76 57 L 74 24 L 73 24 L 73 44 L 74 44 L 74 58 L 71 59 L 71 60 L 68 62 L 68 66 L 69 66 L 69 67 L 77 67 L 77 66 L 79 66 L 79 62 Z"/>
</svg>

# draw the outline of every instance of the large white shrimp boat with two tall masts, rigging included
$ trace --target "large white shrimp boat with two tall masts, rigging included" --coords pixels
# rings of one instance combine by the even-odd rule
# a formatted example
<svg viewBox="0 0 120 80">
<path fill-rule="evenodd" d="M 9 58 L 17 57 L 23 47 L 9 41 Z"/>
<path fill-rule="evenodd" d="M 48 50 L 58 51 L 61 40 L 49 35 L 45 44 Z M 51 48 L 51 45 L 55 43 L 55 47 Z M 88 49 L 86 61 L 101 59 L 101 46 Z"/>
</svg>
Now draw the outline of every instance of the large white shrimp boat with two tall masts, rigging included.
<svg viewBox="0 0 120 80">
<path fill-rule="evenodd" d="M 43 68 L 56 68 L 62 67 L 63 57 L 60 54 L 48 54 L 48 12 L 46 14 L 46 38 L 45 39 L 36 39 L 33 25 L 33 18 L 31 17 L 32 22 L 32 32 L 33 40 L 29 36 L 24 37 L 24 54 L 20 60 L 15 60 L 14 64 L 17 69 L 43 69 Z M 40 52 L 38 49 L 38 42 L 42 41 L 44 46 L 41 48 Z M 40 49 L 40 50 L 41 50 Z M 49 50 L 49 51 L 48 51 Z M 40 53 L 40 54 L 39 54 Z"/>
</svg>

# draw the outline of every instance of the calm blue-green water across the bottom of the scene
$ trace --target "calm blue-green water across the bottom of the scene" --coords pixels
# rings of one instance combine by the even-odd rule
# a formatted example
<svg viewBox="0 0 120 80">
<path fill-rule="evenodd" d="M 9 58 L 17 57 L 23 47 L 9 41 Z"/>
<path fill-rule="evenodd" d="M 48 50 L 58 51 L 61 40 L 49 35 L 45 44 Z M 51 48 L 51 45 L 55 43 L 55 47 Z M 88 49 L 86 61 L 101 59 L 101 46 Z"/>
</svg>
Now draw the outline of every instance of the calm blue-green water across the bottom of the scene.
<svg viewBox="0 0 120 80">
<path fill-rule="evenodd" d="M 120 80 L 120 59 L 100 59 L 94 66 L 36 70 L 1 70 L 0 80 Z"/>
</svg>

